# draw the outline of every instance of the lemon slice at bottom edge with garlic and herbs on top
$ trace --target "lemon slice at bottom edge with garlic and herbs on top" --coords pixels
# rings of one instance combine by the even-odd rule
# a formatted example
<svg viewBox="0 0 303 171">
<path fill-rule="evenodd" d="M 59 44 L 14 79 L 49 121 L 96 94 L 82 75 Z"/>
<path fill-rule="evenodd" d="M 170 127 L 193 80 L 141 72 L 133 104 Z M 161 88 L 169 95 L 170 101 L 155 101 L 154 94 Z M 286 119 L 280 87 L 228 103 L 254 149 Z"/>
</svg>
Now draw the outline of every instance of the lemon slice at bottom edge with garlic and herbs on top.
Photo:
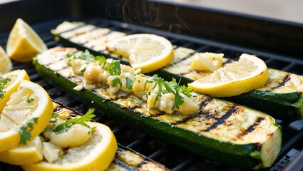
<svg viewBox="0 0 303 171">
<path fill-rule="evenodd" d="M 83 145 L 69 148 L 56 161 L 43 160 L 30 165 L 22 165 L 22 168 L 31 171 L 106 170 L 118 148 L 115 136 L 106 125 L 92 122 L 88 122 L 88 125 L 91 128 L 96 127 L 96 131 Z"/>
</svg>

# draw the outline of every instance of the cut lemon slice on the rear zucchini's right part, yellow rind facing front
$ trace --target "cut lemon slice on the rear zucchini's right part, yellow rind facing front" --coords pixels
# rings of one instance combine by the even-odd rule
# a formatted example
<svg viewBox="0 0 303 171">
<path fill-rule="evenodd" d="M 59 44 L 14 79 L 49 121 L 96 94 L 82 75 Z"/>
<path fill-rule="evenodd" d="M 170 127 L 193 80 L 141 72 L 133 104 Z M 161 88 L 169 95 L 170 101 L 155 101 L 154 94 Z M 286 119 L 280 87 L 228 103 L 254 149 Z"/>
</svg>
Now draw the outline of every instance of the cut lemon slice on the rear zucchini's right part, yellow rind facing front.
<svg viewBox="0 0 303 171">
<path fill-rule="evenodd" d="M 267 66 L 260 58 L 242 54 L 239 61 L 219 68 L 188 87 L 213 97 L 229 97 L 260 88 L 269 78 Z"/>
</svg>

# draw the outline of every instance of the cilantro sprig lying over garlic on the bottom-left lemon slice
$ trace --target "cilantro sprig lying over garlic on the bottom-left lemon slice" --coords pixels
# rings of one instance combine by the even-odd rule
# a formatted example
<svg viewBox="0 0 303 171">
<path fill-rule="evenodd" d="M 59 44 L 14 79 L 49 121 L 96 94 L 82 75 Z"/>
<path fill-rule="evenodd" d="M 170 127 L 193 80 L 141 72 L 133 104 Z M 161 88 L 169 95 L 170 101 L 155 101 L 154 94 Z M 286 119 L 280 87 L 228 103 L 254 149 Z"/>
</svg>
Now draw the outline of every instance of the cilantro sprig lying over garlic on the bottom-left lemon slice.
<svg viewBox="0 0 303 171">
<path fill-rule="evenodd" d="M 81 118 L 73 118 L 73 119 L 66 120 L 65 123 L 59 124 L 54 130 L 46 128 L 44 130 L 44 132 L 46 132 L 46 133 L 56 133 L 56 134 L 66 133 L 66 131 L 75 124 L 80 124 L 80 125 L 83 125 L 83 126 L 86 126 L 86 127 L 90 128 L 85 122 L 91 120 L 93 117 L 96 116 L 96 115 L 93 114 L 94 111 L 95 110 L 90 108 L 90 109 L 88 109 L 86 114 L 83 115 Z M 53 117 L 52 117 L 53 120 L 51 120 L 51 121 L 54 122 L 54 120 L 56 120 L 57 117 L 58 117 L 58 115 L 53 115 Z"/>
</svg>

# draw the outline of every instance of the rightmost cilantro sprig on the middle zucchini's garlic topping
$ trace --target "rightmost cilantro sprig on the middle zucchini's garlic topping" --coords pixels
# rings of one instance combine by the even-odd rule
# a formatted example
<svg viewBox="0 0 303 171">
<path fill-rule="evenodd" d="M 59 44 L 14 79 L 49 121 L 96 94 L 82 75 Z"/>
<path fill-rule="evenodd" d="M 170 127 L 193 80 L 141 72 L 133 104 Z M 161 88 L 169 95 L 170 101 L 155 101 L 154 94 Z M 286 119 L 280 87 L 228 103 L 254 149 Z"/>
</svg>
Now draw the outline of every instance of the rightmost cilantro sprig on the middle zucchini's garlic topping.
<svg viewBox="0 0 303 171">
<path fill-rule="evenodd" d="M 173 103 L 172 110 L 175 108 L 179 108 L 180 105 L 184 103 L 184 98 L 181 93 L 185 94 L 189 98 L 191 97 L 192 89 L 186 87 L 186 86 L 179 86 L 179 83 L 173 78 L 173 81 L 164 81 L 163 78 L 160 78 L 157 74 L 153 75 L 153 77 L 150 77 L 145 82 L 145 88 L 147 83 L 155 83 L 153 88 L 147 93 L 147 95 L 150 95 L 155 88 L 158 88 L 155 96 L 155 103 L 159 100 L 159 98 L 166 93 L 173 93 L 175 95 L 175 101 Z"/>
</svg>

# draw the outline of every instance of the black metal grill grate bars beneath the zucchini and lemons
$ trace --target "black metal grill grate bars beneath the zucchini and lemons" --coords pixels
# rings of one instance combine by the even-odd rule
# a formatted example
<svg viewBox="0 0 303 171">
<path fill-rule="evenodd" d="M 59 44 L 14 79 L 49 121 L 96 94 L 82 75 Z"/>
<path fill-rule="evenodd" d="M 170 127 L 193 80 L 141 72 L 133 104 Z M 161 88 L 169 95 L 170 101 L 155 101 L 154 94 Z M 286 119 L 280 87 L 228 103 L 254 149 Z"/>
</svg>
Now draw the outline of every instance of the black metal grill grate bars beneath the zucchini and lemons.
<svg viewBox="0 0 303 171">
<path fill-rule="evenodd" d="M 38 33 L 39 36 L 46 43 L 48 48 L 54 46 L 62 46 L 60 43 L 53 40 L 53 36 L 50 33 L 52 28 L 55 28 L 64 19 L 58 19 L 53 21 L 47 21 L 40 24 L 35 24 L 32 27 Z M 210 51 L 215 53 L 225 53 L 227 58 L 238 58 L 242 52 L 256 54 L 262 58 L 269 68 L 276 68 L 283 71 L 289 71 L 303 75 L 303 61 L 294 58 L 287 58 L 287 56 L 279 56 L 277 54 L 266 53 L 263 51 L 255 51 L 252 49 L 242 48 L 238 46 L 232 46 L 228 44 L 218 43 L 215 41 L 209 41 L 202 38 L 194 38 L 192 36 L 184 36 L 175 33 L 168 33 L 166 31 L 159 31 L 152 28 L 143 28 L 138 26 L 132 26 L 123 24 L 117 21 L 108 21 L 104 19 L 86 19 L 84 20 L 88 24 L 96 26 L 111 28 L 115 31 L 123 31 L 125 33 L 155 33 L 161 36 L 165 36 L 173 44 L 177 46 L 183 46 L 187 48 L 195 49 L 196 51 Z M 9 36 L 9 32 L 0 33 L 0 46 L 6 46 L 6 41 Z M 73 98 L 63 92 L 63 90 L 56 88 L 47 81 L 43 80 L 31 63 L 16 63 L 14 62 L 14 69 L 25 69 L 34 81 L 46 89 L 48 94 L 54 100 L 57 100 L 68 107 L 77 110 L 79 113 L 85 113 L 88 110 L 86 104 Z M 108 118 L 100 112 L 96 113 L 98 117 L 96 120 L 108 125 L 115 134 L 120 145 L 130 147 L 133 150 L 140 152 L 141 154 L 150 157 L 151 159 L 162 163 L 171 170 L 239 170 L 234 167 L 226 166 L 207 160 L 205 158 L 193 155 L 190 152 L 182 150 L 178 147 L 168 145 L 165 142 L 156 140 L 155 138 L 145 135 L 143 133 L 134 130 L 133 128 L 124 125 L 116 120 Z M 277 120 L 282 125 L 283 129 L 283 146 L 282 151 L 276 164 L 267 170 L 283 170 L 287 165 L 287 170 L 301 170 L 298 163 L 303 160 L 302 152 L 303 148 L 303 120 L 298 120 L 293 123 L 286 123 L 282 120 Z M 299 157 L 297 157 L 299 156 Z M 297 157 L 297 158 L 296 158 Z M 296 158 L 296 159 L 295 159 Z M 294 160 L 295 159 L 295 160 Z M 289 164 L 290 163 L 290 164 Z M 0 170 L 21 170 L 20 167 L 5 165 L 0 163 Z"/>
</svg>

